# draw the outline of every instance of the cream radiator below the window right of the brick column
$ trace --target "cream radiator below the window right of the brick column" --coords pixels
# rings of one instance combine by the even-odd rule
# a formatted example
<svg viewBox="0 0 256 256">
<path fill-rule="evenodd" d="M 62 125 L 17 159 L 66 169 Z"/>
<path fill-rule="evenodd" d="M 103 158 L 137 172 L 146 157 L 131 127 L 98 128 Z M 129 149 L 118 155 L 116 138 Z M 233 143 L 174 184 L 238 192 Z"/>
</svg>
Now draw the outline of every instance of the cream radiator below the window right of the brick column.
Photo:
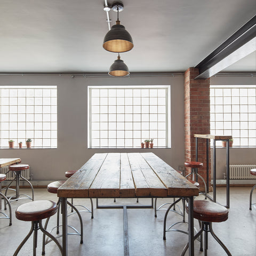
<svg viewBox="0 0 256 256">
<path fill-rule="evenodd" d="M 229 165 L 229 179 L 230 180 L 256 179 L 256 175 L 252 175 L 250 173 L 251 169 L 256 169 L 256 165 L 231 164 Z"/>
</svg>

